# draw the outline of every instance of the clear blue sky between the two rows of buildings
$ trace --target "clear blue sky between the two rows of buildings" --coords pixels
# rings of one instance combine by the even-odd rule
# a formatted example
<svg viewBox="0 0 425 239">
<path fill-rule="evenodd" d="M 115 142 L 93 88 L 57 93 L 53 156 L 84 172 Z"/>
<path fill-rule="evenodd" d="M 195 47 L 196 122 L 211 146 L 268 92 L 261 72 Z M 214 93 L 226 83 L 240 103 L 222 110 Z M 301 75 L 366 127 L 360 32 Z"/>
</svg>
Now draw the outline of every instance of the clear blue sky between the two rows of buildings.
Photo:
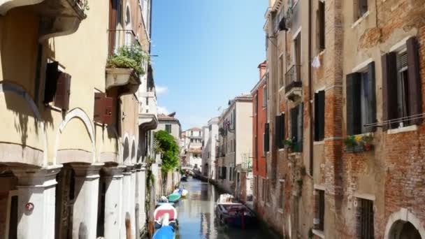
<svg viewBox="0 0 425 239">
<path fill-rule="evenodd" d="M 159 110 L 182 129 L 250 92 L 264 61 L 266 0 L 153 0 L 152 55 Z"/>
</svg>

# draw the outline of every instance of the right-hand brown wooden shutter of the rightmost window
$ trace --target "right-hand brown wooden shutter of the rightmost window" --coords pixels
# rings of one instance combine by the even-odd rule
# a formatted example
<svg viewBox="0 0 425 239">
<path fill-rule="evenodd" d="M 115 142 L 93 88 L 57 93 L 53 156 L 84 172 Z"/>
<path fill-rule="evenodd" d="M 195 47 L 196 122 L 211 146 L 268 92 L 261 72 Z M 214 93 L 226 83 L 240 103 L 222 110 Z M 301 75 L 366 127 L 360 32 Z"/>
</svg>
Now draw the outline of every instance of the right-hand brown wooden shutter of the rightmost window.
<svg viewBox="0 0 425 239">
<path fill-rule="evenodd" d="M 421 76 L 419 74 L 419 49 L 415 37 L 406 42 L 408 48 L 408 73 L 409 73 L 409 111 L 410 115 L 422 114 Z M 411 124 L 420 124 L 422 118 L 411 119 Z"/>
</svg>

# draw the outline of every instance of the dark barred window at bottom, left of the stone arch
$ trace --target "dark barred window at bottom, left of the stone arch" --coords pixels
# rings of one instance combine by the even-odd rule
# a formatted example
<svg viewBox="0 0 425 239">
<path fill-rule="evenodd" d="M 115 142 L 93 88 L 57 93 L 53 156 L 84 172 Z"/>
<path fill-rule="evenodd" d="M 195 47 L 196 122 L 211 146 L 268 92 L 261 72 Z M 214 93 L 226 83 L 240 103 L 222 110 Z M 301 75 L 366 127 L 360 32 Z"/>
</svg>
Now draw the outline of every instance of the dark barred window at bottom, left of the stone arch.
<svg viewBox="0 0 425 239">
<path fill-rule="evenodd" d="M 357 236 L 373 239 L 373 201 L 358 198 L 357 202 Z"/>
</svg>

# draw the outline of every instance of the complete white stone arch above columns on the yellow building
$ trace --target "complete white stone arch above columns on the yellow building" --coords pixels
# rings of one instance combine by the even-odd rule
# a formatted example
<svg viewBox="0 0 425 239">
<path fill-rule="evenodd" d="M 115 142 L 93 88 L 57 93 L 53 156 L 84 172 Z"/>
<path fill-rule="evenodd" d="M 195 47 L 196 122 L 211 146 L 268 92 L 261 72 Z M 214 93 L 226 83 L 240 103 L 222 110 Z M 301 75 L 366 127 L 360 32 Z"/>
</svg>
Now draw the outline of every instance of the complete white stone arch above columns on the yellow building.
<svg viewBox="0 0 425 239">
<path fill-rule="evenodd" d="M 64 129 L 66 128 L 66 124 L 68 124 L 71 119 L 73 118 L 78 118 L 82 121 L 82 123 L 85 125 L 85 128 L 87 129 L 87 133 L 89 134 L 89 139 L 92 143 L 92 155 L 90 156 L 91 159 L 89 160 L 83 160 L 87 163 L 94 163 L 94 161 L 96 160 L 96 145 L 94 142 L 94 129 L 93 129 L 93 124 L 90 121 L 89 117 L 87 116 L 87 114 L 80 108 L 75 108 L 71 111 L 69 111 L 69 113 L 66 114 L 64 120 L 62 121 L 62 123 L 59 125 L 59 129 L 57 130 L 56 133 L 56 140 L 55 140 L 55 148 L 54 148 L 54 156 L 53 156 L 53 162 L 54 164 L 56 164 L 57 162 L 57 154 L 59 151 L 59 143 L 60 143 L 60 137 L 62 135 L 62 132 L 64 131 Z M 75 157 L 82 157 L 81 156 L 81 152 L 78 152 L 78 150 L 71 150 L 71 152 L 67 152 L 67 155 L 72 154 Z M 82 158 L 87 158 L 87 156 L 82 157 Z"/>
</svg>

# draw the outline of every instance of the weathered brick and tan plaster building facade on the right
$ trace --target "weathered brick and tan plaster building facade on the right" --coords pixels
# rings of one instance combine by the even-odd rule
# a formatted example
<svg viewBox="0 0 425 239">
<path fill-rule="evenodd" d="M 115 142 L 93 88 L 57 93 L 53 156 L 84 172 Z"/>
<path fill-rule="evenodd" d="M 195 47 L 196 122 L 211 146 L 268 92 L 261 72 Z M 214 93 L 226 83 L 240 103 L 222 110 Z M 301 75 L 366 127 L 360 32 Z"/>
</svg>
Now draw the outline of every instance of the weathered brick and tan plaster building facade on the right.
<svg viewBox="0 0 425 239">
<path fill-rule="evenodd" d="M 264 219 L 276 231 L 425 237 L 424 11 L 415 0 L 269 1 Z"/>
</svg>

